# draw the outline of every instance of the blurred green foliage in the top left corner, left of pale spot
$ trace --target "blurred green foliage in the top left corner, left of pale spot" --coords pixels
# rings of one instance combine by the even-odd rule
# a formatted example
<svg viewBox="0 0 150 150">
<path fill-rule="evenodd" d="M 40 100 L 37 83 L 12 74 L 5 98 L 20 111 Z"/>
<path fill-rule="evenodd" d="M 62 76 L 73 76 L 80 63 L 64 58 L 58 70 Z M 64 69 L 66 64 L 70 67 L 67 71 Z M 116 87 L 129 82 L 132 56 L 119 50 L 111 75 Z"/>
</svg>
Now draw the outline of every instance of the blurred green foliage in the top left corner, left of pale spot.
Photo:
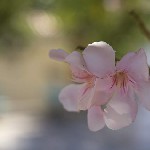
<svg viewBox="0 0 150 150">
<path fill-rule="evenodd" d="M 0 1 L 0 45 L 19 46 L 26 41 L 28 27 L 22 13 L 30 5 L 30 0 Z M 1 49 L 2 50 L 2 49 Z"/>
</svg>

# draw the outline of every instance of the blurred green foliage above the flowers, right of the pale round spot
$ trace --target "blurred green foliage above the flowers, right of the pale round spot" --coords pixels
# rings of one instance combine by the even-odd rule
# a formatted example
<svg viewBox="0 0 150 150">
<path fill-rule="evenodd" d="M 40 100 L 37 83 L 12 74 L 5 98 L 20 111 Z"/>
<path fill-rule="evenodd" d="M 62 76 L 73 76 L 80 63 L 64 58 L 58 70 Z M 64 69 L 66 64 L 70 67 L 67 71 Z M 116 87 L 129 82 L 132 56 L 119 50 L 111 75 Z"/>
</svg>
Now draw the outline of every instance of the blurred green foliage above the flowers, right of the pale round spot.
<svg viewBox="0 0 150 150">
<path fill-rule="evenodd" d="M 74 46 L 86 46 L 93 41 L 106 41 L 118 51 L 119 58 L 127 51 L 143 46 L 142 42 L 146 42 L 135 20 L 129 15 L 133 9 L 142 12 L 141 2 L 138 0 L 56 0 L 53 12 L 61 17 L 63 29 Z"/>
</svg>

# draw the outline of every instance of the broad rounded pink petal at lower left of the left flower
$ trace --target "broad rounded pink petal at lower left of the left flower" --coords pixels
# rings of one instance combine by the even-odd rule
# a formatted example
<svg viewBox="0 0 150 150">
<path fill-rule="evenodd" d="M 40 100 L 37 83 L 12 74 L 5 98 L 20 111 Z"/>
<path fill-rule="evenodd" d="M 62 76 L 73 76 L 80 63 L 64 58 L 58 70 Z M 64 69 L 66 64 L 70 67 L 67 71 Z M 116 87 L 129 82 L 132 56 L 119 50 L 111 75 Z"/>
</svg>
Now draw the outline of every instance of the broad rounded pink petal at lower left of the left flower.
<svg viewBox="0 0 150 150">
<path fill-rule="evenodd" d="M 84 84 L 71 84 L 62 89 L 59 100 L 68 111 L 87 110 L 91 107 L 94 88 Z"/>
</svg>

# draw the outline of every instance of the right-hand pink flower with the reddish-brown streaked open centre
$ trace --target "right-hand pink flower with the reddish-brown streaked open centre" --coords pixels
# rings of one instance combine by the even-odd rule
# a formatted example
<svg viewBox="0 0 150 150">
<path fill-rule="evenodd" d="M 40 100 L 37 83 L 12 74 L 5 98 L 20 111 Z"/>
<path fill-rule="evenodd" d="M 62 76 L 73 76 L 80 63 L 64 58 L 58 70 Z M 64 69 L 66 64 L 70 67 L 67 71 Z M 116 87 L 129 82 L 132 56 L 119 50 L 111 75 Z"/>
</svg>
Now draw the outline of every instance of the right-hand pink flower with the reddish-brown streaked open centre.
<svg viewBox="0 0 150 150">
<path fill-rule="evenodd" d="M 145 51 L 141 49 L 126 54 L 114 67 L 114 55 L 104 55 L 100 42 L 95 45 L 97 48 L 94 50 L 85 49 L 83 56 L 88 70 L 99 77 L 97 90 L 111 94 L 103 110 L 96 105 L 88 110 L 88 120 L 93 122 L 93 126 L 103 122 L 108 128 L 120 129 L 135 120 L 137 100 L 150 110 L 149 69 Z"/>
</svg>

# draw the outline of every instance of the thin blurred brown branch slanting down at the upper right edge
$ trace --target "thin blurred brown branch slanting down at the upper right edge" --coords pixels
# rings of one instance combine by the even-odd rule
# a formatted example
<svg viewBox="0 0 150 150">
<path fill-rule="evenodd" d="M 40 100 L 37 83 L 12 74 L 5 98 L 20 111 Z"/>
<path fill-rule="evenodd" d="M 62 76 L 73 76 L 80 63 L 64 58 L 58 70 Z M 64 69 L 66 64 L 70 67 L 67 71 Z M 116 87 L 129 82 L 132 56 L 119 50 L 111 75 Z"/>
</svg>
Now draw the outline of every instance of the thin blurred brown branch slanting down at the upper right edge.
<svg viewBox="0 0 150 150">
<path fill-rule="evenodd" d="M 143 34 L 148 38 L 148 40 L 150 40 L 150 31 L 147 29 L 140 16 L 134 10 L 130 12 L 130 15 L 134 17 L 135 21 L 138 23 L 138 26 L 140 27 Z"/>
</svg>

